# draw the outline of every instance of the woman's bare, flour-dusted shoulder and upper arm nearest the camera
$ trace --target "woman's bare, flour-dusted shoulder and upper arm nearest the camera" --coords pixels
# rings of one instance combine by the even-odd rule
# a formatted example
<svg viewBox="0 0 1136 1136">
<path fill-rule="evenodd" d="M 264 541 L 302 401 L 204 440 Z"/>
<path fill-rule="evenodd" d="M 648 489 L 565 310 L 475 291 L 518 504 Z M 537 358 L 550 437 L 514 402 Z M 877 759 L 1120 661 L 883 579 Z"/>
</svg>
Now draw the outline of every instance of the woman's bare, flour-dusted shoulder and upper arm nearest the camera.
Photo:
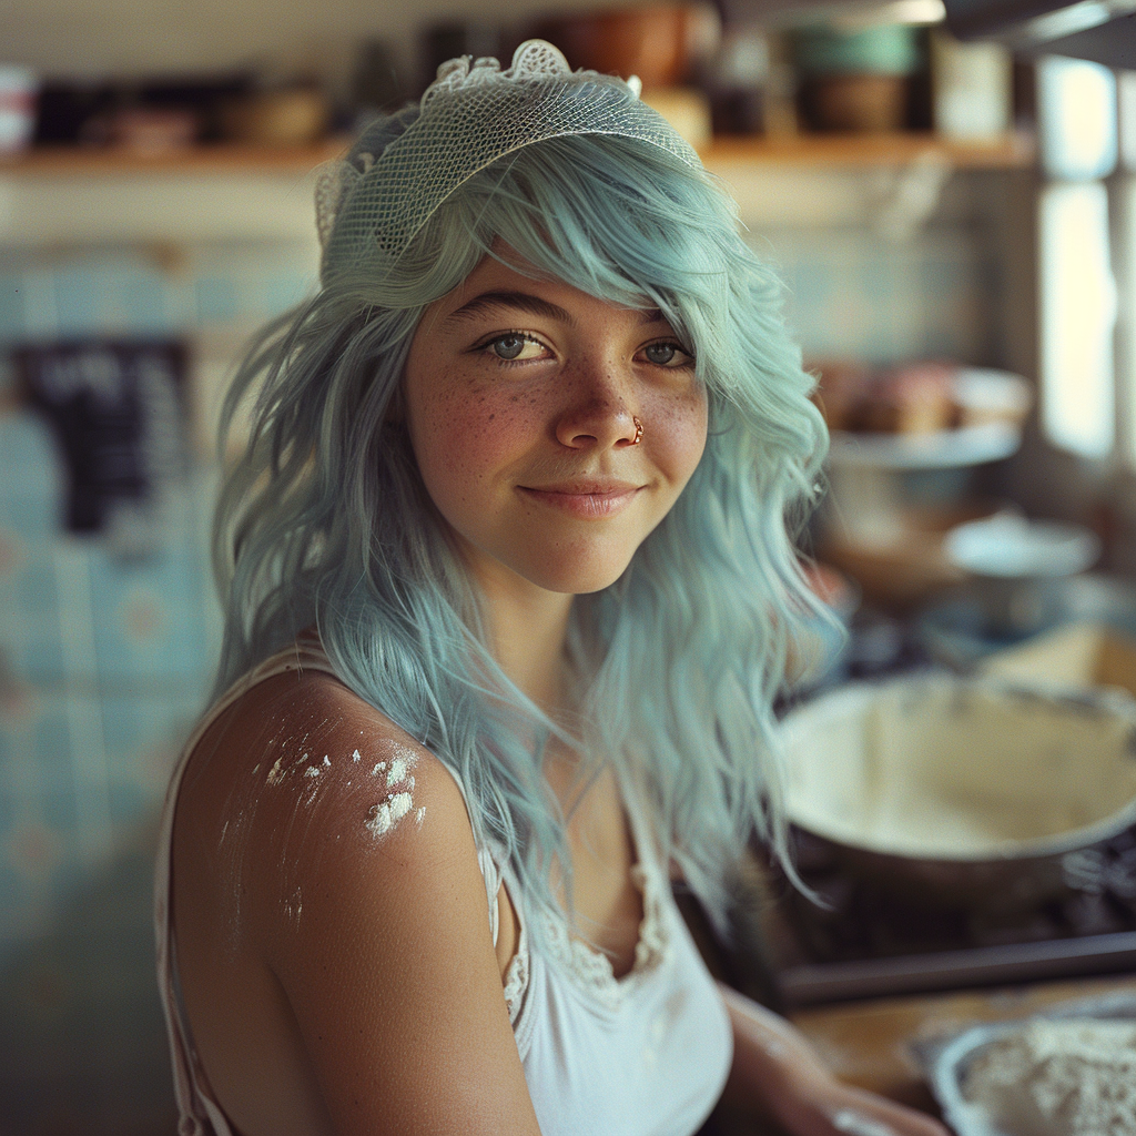
<svg viewBox="0 0 1136 1136">
<path fill-rule="evenodd" d="M 174 853 L 186 1009 L 237 1128 L 535 1131 L 465 801 L 382 713 L 328 675 L 253 687 L 191 758 Z"/>
</svg>

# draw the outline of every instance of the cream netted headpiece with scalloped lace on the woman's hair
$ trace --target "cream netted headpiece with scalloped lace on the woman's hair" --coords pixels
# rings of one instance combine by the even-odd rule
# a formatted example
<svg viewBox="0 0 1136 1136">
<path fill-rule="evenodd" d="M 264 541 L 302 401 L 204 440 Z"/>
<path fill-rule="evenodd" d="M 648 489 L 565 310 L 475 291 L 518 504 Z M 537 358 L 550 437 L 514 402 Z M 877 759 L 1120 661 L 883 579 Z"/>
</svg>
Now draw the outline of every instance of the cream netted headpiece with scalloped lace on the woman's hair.
<svg viewBox="0 0 1136 1136">
<path fill-rule="evenodd" d="M 392 264 L 454 190 L 499 158 L 546 139 L 613 134 L 659 147 L 688 166 L 698 154 L 623 80 L 573 72 L 543 40 L 512 65 L 466 56 L 438 67 L 417 118 L 375 158 L 356 153 L 319 177 L 323 272 Z"/>
</svg>

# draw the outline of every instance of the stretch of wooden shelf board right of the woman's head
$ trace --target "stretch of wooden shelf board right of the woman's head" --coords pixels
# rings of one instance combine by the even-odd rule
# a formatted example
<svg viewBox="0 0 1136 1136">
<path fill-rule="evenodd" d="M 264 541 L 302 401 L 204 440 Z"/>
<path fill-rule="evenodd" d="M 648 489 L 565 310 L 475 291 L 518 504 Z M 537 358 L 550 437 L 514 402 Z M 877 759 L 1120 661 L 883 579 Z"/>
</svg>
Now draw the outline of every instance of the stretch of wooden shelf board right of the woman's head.
<svg viewBox="0 0 1136 1136">
<path fill-rule="evenodd" d="M 953 142 L 930 132 L 717 137 L 701 151 L 708 168 L 738 165 L 889 166 L 936 154 L 961 169 L 1018 169 L 1034 160 L 1033 140 L 1008 134 L 993 142 Z"/>
</svg>

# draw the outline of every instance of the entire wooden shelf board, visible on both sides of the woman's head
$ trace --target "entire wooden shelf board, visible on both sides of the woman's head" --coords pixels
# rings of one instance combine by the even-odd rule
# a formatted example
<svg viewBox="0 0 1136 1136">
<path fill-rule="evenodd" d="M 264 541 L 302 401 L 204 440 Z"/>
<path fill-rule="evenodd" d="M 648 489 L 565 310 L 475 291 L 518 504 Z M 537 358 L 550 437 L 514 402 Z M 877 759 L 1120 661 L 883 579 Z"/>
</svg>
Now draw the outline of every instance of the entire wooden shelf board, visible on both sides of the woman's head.
<svg viewBox="0 0 1136 1136">
<path fill-rule="evenodd" d="M 348 137 L 311 147 L 268 147 L 219 143 L 153 153 L 139 150 L 43 147 L 0 159 L 0 176 L 105 174 L 303 174 L 339 158 L 351 145 Z M 718 137 L 702 149 L 711 169 L 724 166 L 888 166 L 907 165 L 934 153 L 962 169 L 1014 169 L 1034 160 L 1033 141 L 1010 134 L 995 142 L 951 142 L 932 133 L 801 134 L 792 137 Z"/>
</svg>

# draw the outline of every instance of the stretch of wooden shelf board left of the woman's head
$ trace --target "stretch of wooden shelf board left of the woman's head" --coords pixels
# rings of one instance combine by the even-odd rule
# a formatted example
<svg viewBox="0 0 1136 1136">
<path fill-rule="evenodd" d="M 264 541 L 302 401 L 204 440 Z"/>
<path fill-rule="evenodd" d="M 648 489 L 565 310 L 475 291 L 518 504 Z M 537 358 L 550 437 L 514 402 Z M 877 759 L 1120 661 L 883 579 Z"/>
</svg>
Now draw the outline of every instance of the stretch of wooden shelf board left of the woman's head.
<svg viewBox="0 0 1136 1136">
<path fill-rule="evenodd" d="M 145 151 L 94 147 L 36 147 L 15 158 L 0 159 L 0 176 L 103 174 L 307 174 L 320 162 L 341 158 L 348 137 L 310 147 L 272 148 L 222 142 L 215 145 Z"/>
</svg>

